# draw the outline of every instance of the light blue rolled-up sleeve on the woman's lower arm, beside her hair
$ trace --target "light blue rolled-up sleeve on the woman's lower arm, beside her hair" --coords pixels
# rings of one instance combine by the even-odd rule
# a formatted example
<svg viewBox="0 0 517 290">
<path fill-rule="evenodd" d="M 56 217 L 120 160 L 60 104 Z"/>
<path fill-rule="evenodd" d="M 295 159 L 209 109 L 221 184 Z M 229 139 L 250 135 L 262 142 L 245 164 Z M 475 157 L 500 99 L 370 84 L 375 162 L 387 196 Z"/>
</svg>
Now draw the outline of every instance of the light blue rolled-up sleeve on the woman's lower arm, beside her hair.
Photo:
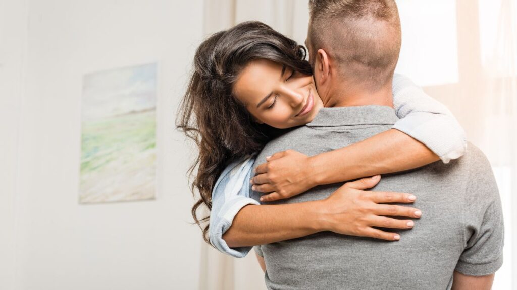
<svg viewBox="0 0 517 290">
<path fill-rule="evenodd" d="M 252 247 L 230 248 L 222 236 L 230 228 L 235 215 L 242 207 L 259 204 L 249 197 L 249 181 L 254 161 L 253 156 L 248 156 L 228 165 L 212 191 L 210 243 L 220 252 L 238 258 L 246 256 Z"/>
</svg>

